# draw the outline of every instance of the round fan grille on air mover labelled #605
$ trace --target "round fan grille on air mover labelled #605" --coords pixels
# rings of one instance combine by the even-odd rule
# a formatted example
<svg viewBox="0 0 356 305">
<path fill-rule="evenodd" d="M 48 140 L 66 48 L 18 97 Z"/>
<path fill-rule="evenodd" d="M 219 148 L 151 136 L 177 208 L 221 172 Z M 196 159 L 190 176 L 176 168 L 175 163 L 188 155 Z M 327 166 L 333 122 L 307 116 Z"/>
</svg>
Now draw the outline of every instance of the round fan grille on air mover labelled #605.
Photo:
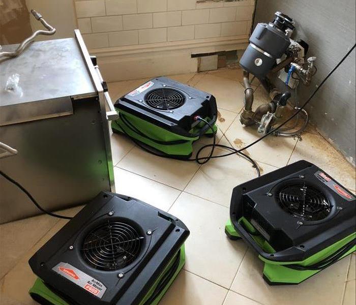
<svg viewBox="0 0 356 305">
<path fill-rule="evenodd" d="M 86 235 L 82 255 L 96 269 L 117 270 L 136 260 L 143 238 L 127 223 L 108 220 Z"/>
</svg>

